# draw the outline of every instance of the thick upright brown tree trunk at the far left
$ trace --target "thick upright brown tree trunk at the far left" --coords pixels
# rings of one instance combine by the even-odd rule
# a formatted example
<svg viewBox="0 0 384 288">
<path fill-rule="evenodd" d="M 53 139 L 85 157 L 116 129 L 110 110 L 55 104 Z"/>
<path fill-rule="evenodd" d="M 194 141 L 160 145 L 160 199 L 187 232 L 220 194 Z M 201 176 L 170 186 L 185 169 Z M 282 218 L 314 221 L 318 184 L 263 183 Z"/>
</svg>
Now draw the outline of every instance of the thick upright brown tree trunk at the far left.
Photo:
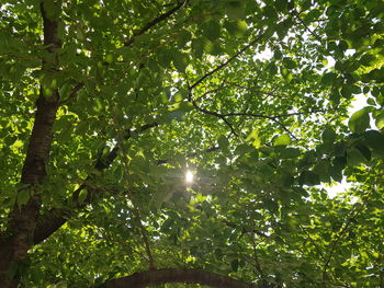
<svg viewBox="0 0 384 288">
<path fill-rule="evenodd" d="M 42 70 L 47 74 L 58 70 L 57 49 L 60 41 L 57 36 L 58 20 L 48 19 L 44 3 L 41 4 L 41 13 L 44 21 L 44 45 L 49 54 L 49 59 L 43 60 Z M 36 189 L 46 176 L 46 165 L 53 138 L 53 125 L 59 105 L 57 89 L 49 95 L 45 95 L 41 88 L 36 101 L 34 126 L 30 137 L 26 157 L 23 164 L 21 183 L 26 184 L 24 189 L 30 193 L 30 199 L 25 205 L 14 208 L 9 215 L 9 224 L 4 233 L 0 235 L 0 287 L 16 287 L 14 275 L 16 265 L 26 256 L 32 245 L 32 238 L 39 210 L 39 195 Z M 13 273 L 14 274 L 14 273 Z"/>
</svg>

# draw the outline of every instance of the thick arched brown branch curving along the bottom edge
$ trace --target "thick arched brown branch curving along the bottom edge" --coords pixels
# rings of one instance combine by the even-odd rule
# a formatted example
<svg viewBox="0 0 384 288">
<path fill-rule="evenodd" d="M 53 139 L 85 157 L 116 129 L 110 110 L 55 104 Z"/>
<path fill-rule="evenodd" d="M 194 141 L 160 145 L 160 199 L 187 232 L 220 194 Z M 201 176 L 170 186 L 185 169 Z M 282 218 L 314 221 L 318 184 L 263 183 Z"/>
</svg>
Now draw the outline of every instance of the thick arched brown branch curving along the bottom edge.
<svg viewBox="0 0 384 288">
<path fill-rule="evenodd" d="M 131 276 L 113 279 L 99 288 L 144 288 L 167 283 L 200 284 L 216 288 L 272 288 L 272 286 L 257 286 L 236 280 L 228 276 L 203 269 L 168 268 L 135 273 Z"/>
</svg>

